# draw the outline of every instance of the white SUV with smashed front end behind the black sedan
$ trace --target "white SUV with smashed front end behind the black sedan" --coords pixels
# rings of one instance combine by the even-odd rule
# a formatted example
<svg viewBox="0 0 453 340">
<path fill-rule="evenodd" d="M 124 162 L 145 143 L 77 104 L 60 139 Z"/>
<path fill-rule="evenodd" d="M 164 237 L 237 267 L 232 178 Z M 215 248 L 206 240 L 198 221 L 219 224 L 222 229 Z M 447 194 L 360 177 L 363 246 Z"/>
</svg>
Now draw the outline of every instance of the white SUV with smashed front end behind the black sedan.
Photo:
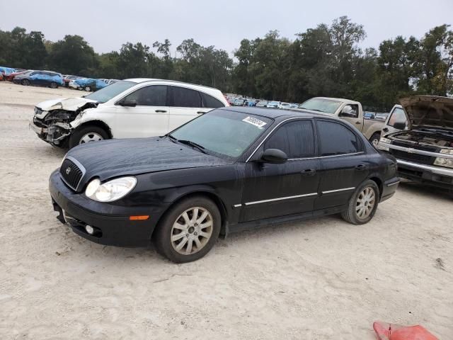
<svg viewBox="0 0 453 340">
<path fill-rule="evenodd" d="M 229 106 L 207 86 L 160 79 L 126 79 L 81 98 L 43 101 L 30 127 L 42 140 L 75 147 L 109 138 L 165 135 L 189 120 Z"/>
</svg>

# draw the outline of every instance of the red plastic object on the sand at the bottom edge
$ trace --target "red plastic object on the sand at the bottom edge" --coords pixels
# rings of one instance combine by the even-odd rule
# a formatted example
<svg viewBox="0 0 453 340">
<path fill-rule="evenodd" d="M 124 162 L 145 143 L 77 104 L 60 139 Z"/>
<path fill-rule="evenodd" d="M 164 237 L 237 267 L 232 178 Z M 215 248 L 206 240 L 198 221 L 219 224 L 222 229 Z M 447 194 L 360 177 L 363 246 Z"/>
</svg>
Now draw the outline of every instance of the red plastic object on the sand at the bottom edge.
<svg viewBox="0 0 453 340">
<path fill-rule="evenodd" d="M 373 328 L 379 340 L 439 340 L 420 325 L 401 326 L 377 321 Z"/>
</svg>

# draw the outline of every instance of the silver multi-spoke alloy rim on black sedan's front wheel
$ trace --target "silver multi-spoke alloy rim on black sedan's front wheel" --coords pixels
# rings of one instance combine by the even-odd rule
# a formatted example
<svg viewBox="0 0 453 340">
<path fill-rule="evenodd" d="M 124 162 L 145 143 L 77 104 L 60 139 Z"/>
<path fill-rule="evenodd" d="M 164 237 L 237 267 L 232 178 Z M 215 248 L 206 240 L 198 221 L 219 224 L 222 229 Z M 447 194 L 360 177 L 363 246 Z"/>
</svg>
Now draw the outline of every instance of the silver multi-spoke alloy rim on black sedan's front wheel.
<svg viewBox="0 0 453 340">
<path fill-rule="evenodd" d="M 193 207 L 178 216 L 171 228 L 171 245 L 179 254 L 190 255 L 203 249 L 214 229 L 211 213 Z"/>
</svg>

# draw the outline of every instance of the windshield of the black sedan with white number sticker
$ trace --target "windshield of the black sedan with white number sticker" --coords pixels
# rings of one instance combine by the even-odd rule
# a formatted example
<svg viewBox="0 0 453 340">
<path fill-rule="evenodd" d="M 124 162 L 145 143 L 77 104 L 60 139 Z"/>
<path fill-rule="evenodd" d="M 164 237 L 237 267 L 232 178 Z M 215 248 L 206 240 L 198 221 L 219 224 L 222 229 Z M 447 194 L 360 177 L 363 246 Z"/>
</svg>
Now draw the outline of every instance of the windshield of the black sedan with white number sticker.
<svg viewBox="0 0 453 340">
<path fill-rule="evenodd" d="M 190 141 L 207 154 L 237 158 L 265 132 L 273 120 L 260 115 L 215 110 L 171 132 L 169 137 Z"/>
</svg>

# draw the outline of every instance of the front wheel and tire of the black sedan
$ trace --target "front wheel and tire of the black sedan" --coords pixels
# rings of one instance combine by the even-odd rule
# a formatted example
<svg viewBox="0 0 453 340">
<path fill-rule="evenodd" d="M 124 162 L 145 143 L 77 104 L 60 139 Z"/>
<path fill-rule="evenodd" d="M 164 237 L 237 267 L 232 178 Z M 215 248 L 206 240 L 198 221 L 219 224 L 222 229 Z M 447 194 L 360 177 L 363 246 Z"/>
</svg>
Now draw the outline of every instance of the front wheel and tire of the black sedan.
<svg viewBox="0 0 453 340">
<path fill-rule="evenodd" d="M 193 196 L 181 200 L 166 212 L 153 243 L 159 254 L 176 263 L 196 261 L 214 246 L 222 217 L 212 200 Z"/>
</svg>

